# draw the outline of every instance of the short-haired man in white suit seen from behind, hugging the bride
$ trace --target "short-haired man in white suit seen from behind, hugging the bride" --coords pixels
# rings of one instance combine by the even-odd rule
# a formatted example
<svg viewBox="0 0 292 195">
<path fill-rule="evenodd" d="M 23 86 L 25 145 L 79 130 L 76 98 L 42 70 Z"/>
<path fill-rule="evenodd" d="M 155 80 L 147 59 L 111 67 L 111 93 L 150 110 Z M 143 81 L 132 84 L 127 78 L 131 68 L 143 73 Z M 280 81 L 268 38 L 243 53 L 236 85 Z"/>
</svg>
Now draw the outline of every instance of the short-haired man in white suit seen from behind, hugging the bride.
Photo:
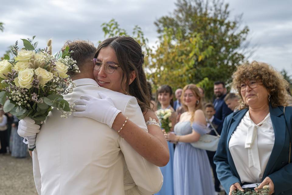
<svg viewBox="0 0 292 195">
<path fill-rule="evenodd" d="M 102 92 L 112 98 L 123 115 L 146 131 L 136 98 L 99 87 L 94 80 L 91 59 L 96 48 L 86 41 L 68 42 L 67 45 L 74 51 L 71 56 L 81 73 L 71 75 L 76 88 L 72 94 L 64 95 L 64 99 L 71 104 L 81 95 L 99 97 L 98 92 Z M 37 132 L 30 122 L 22 120 L 21 136 Z M 142 158 L 106 124 L 87 117 L 63 119 L 54 108 L 37 134 L 33 175 L 38 194 L 123 195 L 125 165 L 134 180 L 131 184 L 134 191 L 154 194 L 160 190 L 163 182 L 160 169 Z"/>
</svg>

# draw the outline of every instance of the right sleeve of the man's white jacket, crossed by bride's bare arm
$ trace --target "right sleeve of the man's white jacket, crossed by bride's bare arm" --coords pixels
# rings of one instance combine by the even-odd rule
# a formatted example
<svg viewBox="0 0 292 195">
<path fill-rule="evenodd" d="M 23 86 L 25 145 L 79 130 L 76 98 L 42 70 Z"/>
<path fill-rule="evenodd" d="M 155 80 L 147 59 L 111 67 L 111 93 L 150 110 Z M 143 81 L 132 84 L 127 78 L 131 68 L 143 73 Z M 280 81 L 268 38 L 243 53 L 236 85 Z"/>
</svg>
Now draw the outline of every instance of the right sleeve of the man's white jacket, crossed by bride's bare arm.
<svg viewBox="0 0 292 195">
<path fill-rule="evenodd" d="M 133 97 L 128 101 L 123 114 L 140 128 L 148 132 L 143 114 L 137 104 L 136 98 Z M 157 193 L 161 189 L 163 183 L 163 176 L 160 168 L 144 159 L 122 137 L 120 138 L 120 148 L 123 152 L 125 163 L 127 164 L 127 168 L 130 173 L 129 175 L 127 168 L 124 169 L 125 179 L 127 178 L 127 182 L 130 182 L 130 176 L 132 176 L 136 185 L 134 186 L 134 184 L 132 184 L 134 188 L 126 190 L 126 195 L 151 195 Z"/>
</svg>

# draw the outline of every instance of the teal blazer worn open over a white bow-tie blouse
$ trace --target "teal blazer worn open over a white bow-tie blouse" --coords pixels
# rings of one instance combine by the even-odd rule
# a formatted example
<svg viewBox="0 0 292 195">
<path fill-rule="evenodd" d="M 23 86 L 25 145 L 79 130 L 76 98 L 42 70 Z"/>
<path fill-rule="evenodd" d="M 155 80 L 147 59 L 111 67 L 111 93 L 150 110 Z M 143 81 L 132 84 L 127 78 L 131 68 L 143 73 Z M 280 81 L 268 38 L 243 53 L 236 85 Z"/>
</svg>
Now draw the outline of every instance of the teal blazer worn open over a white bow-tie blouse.
<svg viewBox="0 0 292 195">
<path fill-rule="evenodd" d="M 262 180 L 267 176 L 272 179 L 276 195 L 292 195 L 292 162 L 290 161 L 290 164 L 288 164 L 289 145 L 292 139 L 292 107 L 285 108 L 285 115 L 283 106 L 272 108 L 270 105 L 269 109 L 275 133 L 275 143 Z M 235 131 L 247 111 L 248 109 L 243 109 L 225 118 L 218 148 L 214 156 L 218 179 L 227 194 L 232 184 L 238 182 L 244 185 L 238 176 L 228 144 L 231 134 Z"/>
</svg>

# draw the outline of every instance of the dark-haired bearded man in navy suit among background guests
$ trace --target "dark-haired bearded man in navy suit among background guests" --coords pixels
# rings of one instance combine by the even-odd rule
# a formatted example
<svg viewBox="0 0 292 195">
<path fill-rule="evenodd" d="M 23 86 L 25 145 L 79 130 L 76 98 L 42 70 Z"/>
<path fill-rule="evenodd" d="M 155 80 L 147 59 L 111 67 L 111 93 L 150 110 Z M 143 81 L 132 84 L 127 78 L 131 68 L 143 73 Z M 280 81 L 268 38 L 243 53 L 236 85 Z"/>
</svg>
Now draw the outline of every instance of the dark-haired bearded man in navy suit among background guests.
<svg viewBox="0 0 292 195">
<path fill-rule="evenodd" d="M 224 82 L 217 81 L 214 83 L 214 95 L 215 100 L 213 102 L 214 108 L 216 110 L 215 117 L 222 122 L 225 117 L 232 113 L 232 110 L 226 105 L 224 98 L 226 96 L 226 88 Z"/>
</svg>

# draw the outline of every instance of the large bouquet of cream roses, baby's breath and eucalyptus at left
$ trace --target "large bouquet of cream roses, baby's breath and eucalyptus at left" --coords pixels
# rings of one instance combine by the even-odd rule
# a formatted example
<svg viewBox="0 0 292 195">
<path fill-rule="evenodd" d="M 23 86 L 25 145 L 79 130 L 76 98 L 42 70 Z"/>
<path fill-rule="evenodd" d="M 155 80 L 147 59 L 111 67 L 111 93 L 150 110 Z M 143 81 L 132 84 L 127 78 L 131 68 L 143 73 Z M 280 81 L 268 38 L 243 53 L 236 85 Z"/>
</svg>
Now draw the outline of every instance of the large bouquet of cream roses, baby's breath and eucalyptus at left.
<svg viewBox="0 0 292 195">
<path fill-rule="evenodd" d="M 5 55 L 0 61 L 0 81 L 5 86 L 0 93 L 0 104 L 4 112 L 17 116 L 18 119 L 30 117 L 41 124 L 52 107 L 62 112 L 67 118 L 73 105 L 64 100 L 64 94 L 71 93 L 75 84 L 67 75 L 68 71 L 79 73 L 76 61 L 70 58 L 69 47 L 52 55 L 52 41 L 47 48 L 36 49 L 33 39 L 22 39 L 24 48 L 18 51 L 18 41 L 12 48 L 12 59 Z M 70 87 L 69 87 L 70 86 Z"/>
</svg>

